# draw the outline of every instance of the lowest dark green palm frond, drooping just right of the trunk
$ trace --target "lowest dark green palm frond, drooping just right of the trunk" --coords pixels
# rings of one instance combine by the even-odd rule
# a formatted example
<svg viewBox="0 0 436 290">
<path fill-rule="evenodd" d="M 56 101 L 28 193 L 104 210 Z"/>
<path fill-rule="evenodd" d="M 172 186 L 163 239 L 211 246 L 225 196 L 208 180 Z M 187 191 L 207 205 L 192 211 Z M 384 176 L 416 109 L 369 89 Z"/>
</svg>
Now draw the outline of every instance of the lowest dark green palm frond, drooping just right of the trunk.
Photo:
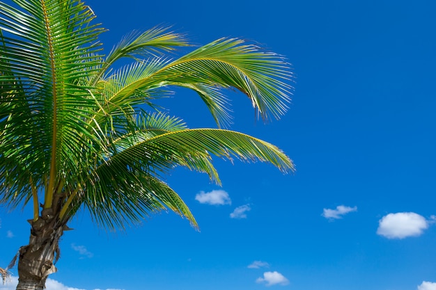
<svg viewBox="0 0 436 290">
<path fill-rule="evenodd" d="M 109 229 L 124 229 L 126 225 L 140 223 L 157 211 L 171 209 L 198 227 L 191 211 L 167 184 L 146 172 L 111 172 L 104 168 L 104 175 L 86 184 L 86 191 L 77 195 L 75 202 L 91 213 L 98 225 Z M 117 178 L 117 182 L 104 177 Z M 74 207 L 71 207 L 72 209 Z M 79 207 L 77 207 L 78 209 Z"/>
</svg>

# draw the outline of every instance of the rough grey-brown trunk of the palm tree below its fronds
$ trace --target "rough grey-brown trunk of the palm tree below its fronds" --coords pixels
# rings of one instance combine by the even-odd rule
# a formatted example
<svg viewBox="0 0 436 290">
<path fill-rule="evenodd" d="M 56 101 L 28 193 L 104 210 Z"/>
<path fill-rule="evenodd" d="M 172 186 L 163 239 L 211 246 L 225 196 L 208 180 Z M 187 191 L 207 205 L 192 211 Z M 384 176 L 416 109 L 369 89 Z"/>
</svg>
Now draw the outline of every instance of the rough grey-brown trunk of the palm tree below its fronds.
<svg viewBox="0 0 436 290">
<path fill-rule="evenodd" d="M 43 210 L 38 220 L 31 221 L 29 245 L 20 248 L 17 290 L 45 288 L 48 275 L 56 272 L 54 263 L 59 258 L 62 234 L 63 224 L 50 210 Z"/>
</svg>

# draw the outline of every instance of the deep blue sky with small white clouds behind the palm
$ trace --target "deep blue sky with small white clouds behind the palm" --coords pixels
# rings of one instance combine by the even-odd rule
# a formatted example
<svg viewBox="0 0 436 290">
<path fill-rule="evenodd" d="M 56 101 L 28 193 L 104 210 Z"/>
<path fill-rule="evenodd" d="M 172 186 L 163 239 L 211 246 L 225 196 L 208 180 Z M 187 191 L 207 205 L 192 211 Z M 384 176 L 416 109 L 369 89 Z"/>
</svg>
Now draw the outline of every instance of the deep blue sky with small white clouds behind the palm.
<svg viewBox="0 0 436 290">
<path fill-rule="evenodd" d="M 436 289 L 436 2 L 86 3 L 107 49 L 164 24 L 198 44 L 240 37 L 286 56 L 288 113 L 256 122 L 229 92 L 231 128 L 278 145 L 297 171 L 217 160 L 220 188 L 175 170 L 167 182 L 200 232 L 162 213 L 112 234 L 81 213 L 47 290 Z M 213 125 L 189 91 L 165 106 L 190 127 Z M 0 266 L 27 243 L 28 218 L 0 209 Z"/>
</svg>

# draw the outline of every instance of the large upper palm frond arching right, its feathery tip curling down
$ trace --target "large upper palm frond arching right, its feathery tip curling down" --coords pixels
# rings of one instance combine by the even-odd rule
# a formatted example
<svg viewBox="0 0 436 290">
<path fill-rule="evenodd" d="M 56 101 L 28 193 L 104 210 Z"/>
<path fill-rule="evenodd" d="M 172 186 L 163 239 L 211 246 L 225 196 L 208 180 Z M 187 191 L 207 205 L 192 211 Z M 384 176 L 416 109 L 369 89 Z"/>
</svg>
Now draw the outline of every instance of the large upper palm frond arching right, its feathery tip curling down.
<svg viewBox="0 0 436 290">
<path fill-rule="evenodd" d="M 168 86 L 192 88 L 202 97 L 218 124 L 228 122 L 228 102 L 219 88 L 244 92 L 263 120 L 279 118 L 286 112 L 292 87 L 288 64 L 277 54 L 265 52 L 238 39 L 220 39 L 175 61 L 150 61 L 153 70 L 140 77 L 126 71 L 129 82 L 114 91 L 111 100 L 129 102 L 135 92 L 148 94 Z M 146 65 L 147 63 L 144 63 Z"/>
</svg>

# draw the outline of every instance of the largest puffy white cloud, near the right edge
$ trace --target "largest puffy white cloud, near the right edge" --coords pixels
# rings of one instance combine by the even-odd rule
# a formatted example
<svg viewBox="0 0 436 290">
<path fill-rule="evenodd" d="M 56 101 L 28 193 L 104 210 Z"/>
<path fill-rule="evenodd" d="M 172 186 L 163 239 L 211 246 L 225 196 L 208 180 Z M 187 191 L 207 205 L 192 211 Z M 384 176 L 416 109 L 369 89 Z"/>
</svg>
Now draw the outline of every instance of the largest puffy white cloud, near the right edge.
<svg viewBox="0 0 436 290">
<path fill-rule="evenodd" d="M 426 218 L 412 212 L 388 214 L 379 220 L 377 234 L 388 239 L 404 239 L 420 236 L 428 228 Z"/>
</svg>

